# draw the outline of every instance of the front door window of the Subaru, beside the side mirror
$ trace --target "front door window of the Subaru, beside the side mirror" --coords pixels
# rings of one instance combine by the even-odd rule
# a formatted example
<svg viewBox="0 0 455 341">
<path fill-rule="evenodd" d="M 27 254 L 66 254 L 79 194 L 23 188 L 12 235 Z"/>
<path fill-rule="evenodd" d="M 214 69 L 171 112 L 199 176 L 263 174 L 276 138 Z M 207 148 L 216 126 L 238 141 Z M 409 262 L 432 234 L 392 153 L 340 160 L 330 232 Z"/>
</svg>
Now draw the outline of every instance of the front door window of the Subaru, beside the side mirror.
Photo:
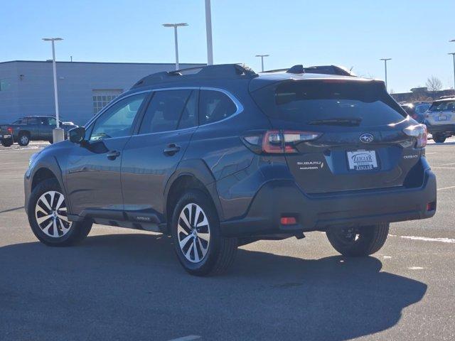
<svg viewBox="0 0 455 341">
<path fill-rule="evenodd" d="M 107 109 L 96 121 L 90 141 L 129 136 L 139 108 L 147 94 L 137 94 L 120 100 Z"/>
</svg>

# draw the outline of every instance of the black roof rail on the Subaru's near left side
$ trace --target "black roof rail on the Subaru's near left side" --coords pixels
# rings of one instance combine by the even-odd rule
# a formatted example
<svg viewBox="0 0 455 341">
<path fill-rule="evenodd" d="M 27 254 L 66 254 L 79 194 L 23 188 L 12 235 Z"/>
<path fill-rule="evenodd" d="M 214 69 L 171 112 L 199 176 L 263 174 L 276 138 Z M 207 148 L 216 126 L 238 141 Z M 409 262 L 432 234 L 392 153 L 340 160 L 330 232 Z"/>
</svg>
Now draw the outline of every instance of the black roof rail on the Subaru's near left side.
<svg viewBox="0 0 455 341">
<path fill-rule="evenodd" d="M 206 65 L 199 67 L 188 67 L 186 69 L 176 71 L 156 72 L 148 75 L 132 86 L 132 89 L 137 87 L 146 87 L 159 82 L 173 82 L 184 79 L 198 78 L 236 78 L 236 77 L 257 77 L 257 73 L 250 67 L 240 64 L 218 64 Z"/>
</svg>

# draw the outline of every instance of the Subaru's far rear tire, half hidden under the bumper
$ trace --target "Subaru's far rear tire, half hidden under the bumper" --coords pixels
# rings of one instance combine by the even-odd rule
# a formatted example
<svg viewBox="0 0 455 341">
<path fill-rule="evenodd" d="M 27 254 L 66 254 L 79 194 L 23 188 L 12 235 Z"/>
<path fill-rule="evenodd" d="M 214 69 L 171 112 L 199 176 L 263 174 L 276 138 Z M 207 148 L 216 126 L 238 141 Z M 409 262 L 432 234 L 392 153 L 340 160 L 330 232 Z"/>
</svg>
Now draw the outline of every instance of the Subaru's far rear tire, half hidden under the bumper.
<svg viewBox="0 0 455 341">
<path fill-rule="evenodd" d="M 343 256 L 369 256 L 378 252 L 389 233 L 389 224 L 358 228 L 333 227 L 326 232 L 328 241 Z"/>
</svg>

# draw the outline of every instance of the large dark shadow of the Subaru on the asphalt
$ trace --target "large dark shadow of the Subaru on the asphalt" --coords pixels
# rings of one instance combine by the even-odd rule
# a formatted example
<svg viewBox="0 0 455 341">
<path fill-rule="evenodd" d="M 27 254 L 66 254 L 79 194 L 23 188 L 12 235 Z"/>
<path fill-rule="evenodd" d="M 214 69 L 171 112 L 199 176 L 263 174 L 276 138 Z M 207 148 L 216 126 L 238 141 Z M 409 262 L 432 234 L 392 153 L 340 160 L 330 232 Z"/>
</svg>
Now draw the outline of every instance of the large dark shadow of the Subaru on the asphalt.
<svg viewBox="0 0 455 341">
<path fill-rule="evenodd" d="M 350 340 L 392 328 L 427 290 L 381 268 L 240 249 L 228 274 L 198 278 L 154 234 L 14 244 L 0 247 L 0 339 Z"/>
</svg>

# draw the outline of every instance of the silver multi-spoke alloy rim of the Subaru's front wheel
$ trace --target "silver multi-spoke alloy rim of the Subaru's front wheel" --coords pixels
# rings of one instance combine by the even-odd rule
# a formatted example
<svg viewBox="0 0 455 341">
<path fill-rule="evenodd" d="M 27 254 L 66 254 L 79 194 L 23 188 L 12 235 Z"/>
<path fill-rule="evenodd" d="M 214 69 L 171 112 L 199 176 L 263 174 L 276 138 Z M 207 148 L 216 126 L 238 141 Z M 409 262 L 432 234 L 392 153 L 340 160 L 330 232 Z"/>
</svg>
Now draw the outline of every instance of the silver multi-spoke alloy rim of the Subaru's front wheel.
<svg viewBox="0 0 455 341">
<path fill-rule="evenodd" d="M 65 197 L 55 190 L 39 197 L 35 206 L 35 218 L 40 229 L 49 237 L 63 237 L 70 231 L 71 222 L 67 217 Z"/>
</svg>

